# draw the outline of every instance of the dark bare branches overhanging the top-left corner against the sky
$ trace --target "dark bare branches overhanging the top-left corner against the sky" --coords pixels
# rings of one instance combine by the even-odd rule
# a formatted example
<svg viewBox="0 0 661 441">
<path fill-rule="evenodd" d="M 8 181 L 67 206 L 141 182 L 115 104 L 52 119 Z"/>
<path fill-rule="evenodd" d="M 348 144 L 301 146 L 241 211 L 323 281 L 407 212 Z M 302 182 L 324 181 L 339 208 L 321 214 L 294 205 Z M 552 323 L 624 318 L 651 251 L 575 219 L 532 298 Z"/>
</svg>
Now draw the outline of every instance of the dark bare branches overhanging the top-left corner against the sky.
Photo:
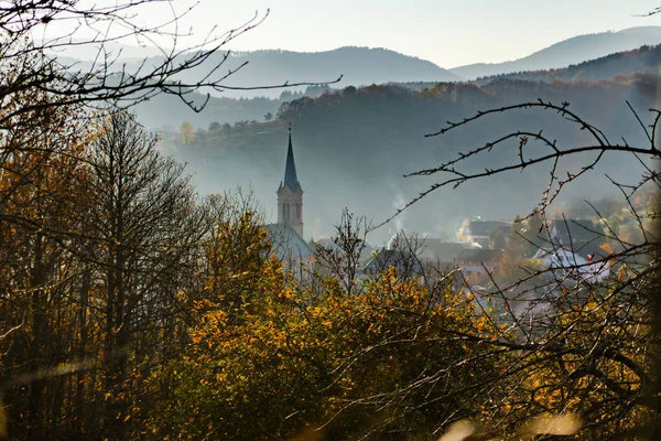
<svg viewBox="0 0 661 441">
<path fill-rule="evenodd" d="M 145 26 L 139 19 L 153 3 L 170 7 L 172 15 L 154 26 Z M 220 51 L 227 43 L 259 25 L 268 15 L 256 14 L 242 25 L 224 33 L 216 29 L 196 44 L 182 47 L 181 40 L 188 34 L 177 23 L 191 11 L 175 12 L 174 0 L 122 0 L 106 6 L 87 4 L 79 0 L 7 0 L 0 4 L 0 51 L 3 68 L 13 67 L 17 74 L 0 83 L 3 101 L 20 90 L 39 88 L 58 99 L 58 106 L 86 104 L 105 106 L 107 101 L 131 105 L 165 93 L 180 97 L 187 106 L 199 111 L 206 101 L 195 104 L 194 92 L 203 92 L 207 99 L 210 90 L 252 89 L 295 86 L 303 84 L 256 85 L 236 87 L 227 79 L 246 64 L 235 69 L 220 71 L 229 52 Z M 61 26 L 61 28 L 57 28 Z M 55 32 L 51 32 L 55 29 Z M 57 29 L 66 31 L 56 32 Z M 37 32 L 39 31 L 39 32 Z M 36 41 L 33 35 L 45 37 Z M 87 36 L 87 35 L 93 36 Z M 159 45 L 163 39 L 171 47 Z M 134 41 L 151 43 L 161 56 L 144 60 L 129 67 L 113 53 L 109 43 Z M 83 46 L 97 52 L 91 65 L 66 64 L 54 54 L 66 47 Z M 17 68 L 18 67 L 18 68 Z M 182 76 L 182 74 L 186 74 Z M 33 105 L 15 111 L 26 111 Z M 11 114 L 3 114 L 7 123 Z"/>
</svg>

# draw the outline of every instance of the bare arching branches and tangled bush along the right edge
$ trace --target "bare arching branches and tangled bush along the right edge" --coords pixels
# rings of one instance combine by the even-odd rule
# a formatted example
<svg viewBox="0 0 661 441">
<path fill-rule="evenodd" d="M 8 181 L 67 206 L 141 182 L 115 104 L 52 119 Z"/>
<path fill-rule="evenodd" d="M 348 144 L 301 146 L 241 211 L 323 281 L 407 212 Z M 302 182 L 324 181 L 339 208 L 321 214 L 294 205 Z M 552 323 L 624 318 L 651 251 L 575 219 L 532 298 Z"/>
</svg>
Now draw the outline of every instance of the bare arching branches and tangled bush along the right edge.
<svg viewBox="0 0 661 441">
<path fill-rule="evenodd" d="M 484 333 L 458 333 L 448 338 L 465 338 L 481 349 L 475 359 L 492 357 L 503 363 L 501 375 L 480 378 L 463 385 L 470 400 L 481 401 L 487 417 L 488 437 L 498 432 L 513 433 L 530 418 L 545 412 L 573 411 L 584 421 L 585 439 L 609 437 L 658 438 L 659 355 L 661 341 L 659 288 L 659 205 L 661 174 L 655 169 L 661 159 L 659 121 L 661 112 L 651 110 L 649 125 L 629 105 L 640 125 L 646 142 L 614 142 L 609 137 L 571 110 L 568 103 L 523 103 L 480 111 L 459 122 L 448 122 L 436 137 L 460 128 L 479 126 L 480 121 L 502 112 L 542 111 L 574 123 L 587 133 L 586 143 L 562 146 L 552 135 L 542 131 L 514 130 L 454 159 L 412 175 L 438 175 L 441 180 L 411 201 L 411 206 L 437 189 L 457 187 L 466 182 L 527 168 L 548 164 L 549 184 L 531 216 L 542 216 L 543 223 L 533 236 L 521 238 L 545 250 L 542 267 L 520 262 L 519 277 L 503 283 L 495 271 L 489 273 L 489 289 L 476 297 L 475 308 L 488 318 Z M 578 138 L 581 139 L 581 138 Z M 516 149 L 507 149 L 513 142 Z M 502 149 L 509 162 L 492 169 L 476 170 L 472 160 Z M 592 157 L 585 162 L 585 153 Z M 551 219 L 552 203 L 563 189 L 593 170 L 613 153 L 633 157 L 640 174 L 632 183 L 617 182 L 608 176 L 621 193 L 628 215 L 638 234 L 631 239 L 605 219 L 594 205 L 600 226 L 585 227 L 574 219 Z M 560 161 L 576 157 L 574 169 L 561 174 Z M 405 209 L 407 207 L 402 208 Z M 397 214 L 399 214 L 400 209 Z M 397 215 L 395 214 L 395 215 Z M 564 225 L 567 236 L 556 237 L 555 229 Z M 572 233 L 590 229 L 593 239 L 584 243 Z M 630 235 L 629 235 L 630 236 Z M 597 247 L 597 245 L 603 246 Z M 592 247 L 584 260 L 582 249 Z M 487 348 L 486 351 L 483 351 Z M 499 358 L 503 355 L 505 358 Z M 457 365 L 469 363 L 457 359 Z M 433 388 L 444 375 L 438 373 L 393 391 L 393 396 Z M 505 390 L 508 390 L 505 395 Z M 453 392 L 456 394 L 456 392 Z M 452 395 L 452 394 L 451 394 Z M 451 395 L 447 398 L 451 398 Z M 467 417 L 457 409 L 441 427 Z M 486 438 L 485 438 L 486 439 Z"/>
</svg>

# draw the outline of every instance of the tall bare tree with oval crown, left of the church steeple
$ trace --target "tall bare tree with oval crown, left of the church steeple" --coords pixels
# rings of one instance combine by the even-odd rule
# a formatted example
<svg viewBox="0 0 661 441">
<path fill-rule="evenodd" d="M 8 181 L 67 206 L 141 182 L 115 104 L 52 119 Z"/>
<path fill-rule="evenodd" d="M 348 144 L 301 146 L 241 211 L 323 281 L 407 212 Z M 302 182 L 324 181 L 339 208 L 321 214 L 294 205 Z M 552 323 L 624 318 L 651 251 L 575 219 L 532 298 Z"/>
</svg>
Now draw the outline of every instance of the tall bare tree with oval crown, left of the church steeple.
<svg viewBox="0 0 661 441">
<path fill-rule="evenodd" d="M 131 364 L 158 358 L 177 313 L 176 292 L 191 286 L 204 214 L 182 165 L 155 151 L 156 137 L 133 115 L 115 112 L 99 128 L 90 158 L 91 207 L 86 225 L 98 238 L 89 247 L 105 309 L 104 432 L 121 438 L 129 409 Z M 189 275 L 189 276 L 187 276 Z M 151 342 L 151 344 L 149 343 Z M 144 345 L 143 345 L 144 344 Z"/>
</svg>

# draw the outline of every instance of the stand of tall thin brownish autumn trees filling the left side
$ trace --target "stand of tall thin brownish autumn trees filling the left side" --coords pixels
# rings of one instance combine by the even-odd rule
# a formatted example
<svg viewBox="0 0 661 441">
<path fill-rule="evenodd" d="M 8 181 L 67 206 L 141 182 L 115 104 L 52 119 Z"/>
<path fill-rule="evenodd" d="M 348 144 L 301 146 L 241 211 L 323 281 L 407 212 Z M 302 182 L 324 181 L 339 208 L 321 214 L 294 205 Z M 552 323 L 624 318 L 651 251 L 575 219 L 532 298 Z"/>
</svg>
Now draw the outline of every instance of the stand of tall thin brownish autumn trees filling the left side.
<svg viewBox="0 0 661 441">
<path fill-rule="evenodd" d="M 136 380 L 183 336 L 177 295 L 195 283 L 208 208 L 133 116 L 26 95 L 45 110 L 2 139 L 9 434 L 126 439 L 137 404 L 153 399 Z"/>
</svg>

